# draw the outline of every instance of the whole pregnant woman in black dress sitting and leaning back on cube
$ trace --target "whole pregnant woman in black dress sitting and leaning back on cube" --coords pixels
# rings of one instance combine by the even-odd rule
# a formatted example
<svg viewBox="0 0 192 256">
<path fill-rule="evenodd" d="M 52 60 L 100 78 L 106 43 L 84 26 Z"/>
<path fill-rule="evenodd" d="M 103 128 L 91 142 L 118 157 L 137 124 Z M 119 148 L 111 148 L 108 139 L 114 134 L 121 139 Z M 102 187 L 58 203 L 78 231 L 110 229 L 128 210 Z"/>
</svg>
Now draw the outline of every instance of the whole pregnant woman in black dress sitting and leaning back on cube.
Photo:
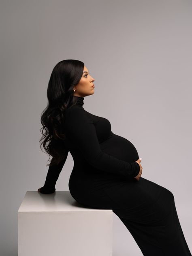
<svg viewBox="0 0 192 256">
<path fill-rule="evenodd" d="M 114 134 L 108 119 L 83 108 L 84 97 L 94 94 L 93 81 L 78 60 L 63 60 L 53 68 L 49 104 L 41 116 L 41 145 L 52 159 L 38 191 L 55 192 L 70 151 L 74 166 L 69 190 L 77 202 L 112 209 L 144 256 L 191 256 L 172 192 L 141 177 L 143 168 L 134 145 Z"/>
</svg>

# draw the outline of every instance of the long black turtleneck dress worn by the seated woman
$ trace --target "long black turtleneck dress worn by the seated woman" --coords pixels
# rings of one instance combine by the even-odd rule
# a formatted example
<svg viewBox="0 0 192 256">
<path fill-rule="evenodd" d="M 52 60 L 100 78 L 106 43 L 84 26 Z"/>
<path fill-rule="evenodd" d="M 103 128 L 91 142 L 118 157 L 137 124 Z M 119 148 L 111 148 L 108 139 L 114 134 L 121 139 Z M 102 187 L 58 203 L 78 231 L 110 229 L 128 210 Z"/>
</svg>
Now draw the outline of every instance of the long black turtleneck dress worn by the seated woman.
<svg viewBox="0 0 192 256">
<path fill-rule="evenodd" d="M 175 208 L 173 193 L 139 173 L 137 149 L 114 134 L 108 119 L 87 112 L 83 97 L 66 109 L 66 155 L 49 166 L 40 192 L 55 192 L 68 151 L 74 166 L 69 190 L 80 204 L 112 209 L 130 231 L 144 256 L 192 256 Z M 142 174 L 143 176 L 143 174 Z"/>
</svg>

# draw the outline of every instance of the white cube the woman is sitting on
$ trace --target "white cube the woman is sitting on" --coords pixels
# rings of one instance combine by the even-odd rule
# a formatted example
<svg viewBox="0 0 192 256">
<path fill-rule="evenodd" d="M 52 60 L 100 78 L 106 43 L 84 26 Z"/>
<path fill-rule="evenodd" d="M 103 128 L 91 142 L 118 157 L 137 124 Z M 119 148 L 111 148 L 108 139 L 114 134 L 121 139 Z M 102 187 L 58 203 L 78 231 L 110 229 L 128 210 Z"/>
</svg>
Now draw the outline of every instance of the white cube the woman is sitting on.
<svg viewBox="0 0 192 256">
<path fill-rule="evenodd" d="M 112 256 L 112 209 L 77 203 L 69 191 L 27 191 L 18 209 L 18 256 Z"/>
</svg>

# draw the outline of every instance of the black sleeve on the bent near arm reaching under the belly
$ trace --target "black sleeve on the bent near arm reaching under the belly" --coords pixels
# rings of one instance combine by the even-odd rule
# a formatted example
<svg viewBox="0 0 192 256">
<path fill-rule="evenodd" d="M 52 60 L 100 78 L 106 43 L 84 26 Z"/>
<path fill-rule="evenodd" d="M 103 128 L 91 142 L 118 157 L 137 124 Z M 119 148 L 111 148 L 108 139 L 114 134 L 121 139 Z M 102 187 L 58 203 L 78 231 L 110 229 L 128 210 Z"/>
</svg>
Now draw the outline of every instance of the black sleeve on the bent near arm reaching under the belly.
<svg viewBox="0 0 192 256">
<path fill-rule="evenodd" d="M 72 107 L 66 111 L 66 128 L 70 139 L 90 165 L 125 177 L 138 175 L 140 166 L 137 162 L 119 160 L 100 149 L 94 122 L 83 108 Z"/>
</svg>

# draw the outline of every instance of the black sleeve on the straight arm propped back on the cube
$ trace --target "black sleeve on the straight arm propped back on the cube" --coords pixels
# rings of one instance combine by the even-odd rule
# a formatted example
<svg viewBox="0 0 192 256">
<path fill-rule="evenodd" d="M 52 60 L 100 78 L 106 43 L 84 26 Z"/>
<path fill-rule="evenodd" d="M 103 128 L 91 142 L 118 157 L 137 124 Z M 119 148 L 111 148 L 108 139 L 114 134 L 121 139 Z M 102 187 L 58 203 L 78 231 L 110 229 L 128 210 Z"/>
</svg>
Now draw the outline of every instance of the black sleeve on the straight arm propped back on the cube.
<svg viewBox="0 0 192 256">
<path fill-rule="evenodd" d="M 66 151 L 64 159 L 58 165 L 49 166 L 45 184 L 40 189 L 41 193 L 50 194 L 50 193 L 55 192 L 55 184 L 56 184 L 58 177 L 60 175 L 60 172 L 62 171 L 62 168 L 66 162 L 67 156 L 68 156 L 68 150 Z"/>
</svg>

